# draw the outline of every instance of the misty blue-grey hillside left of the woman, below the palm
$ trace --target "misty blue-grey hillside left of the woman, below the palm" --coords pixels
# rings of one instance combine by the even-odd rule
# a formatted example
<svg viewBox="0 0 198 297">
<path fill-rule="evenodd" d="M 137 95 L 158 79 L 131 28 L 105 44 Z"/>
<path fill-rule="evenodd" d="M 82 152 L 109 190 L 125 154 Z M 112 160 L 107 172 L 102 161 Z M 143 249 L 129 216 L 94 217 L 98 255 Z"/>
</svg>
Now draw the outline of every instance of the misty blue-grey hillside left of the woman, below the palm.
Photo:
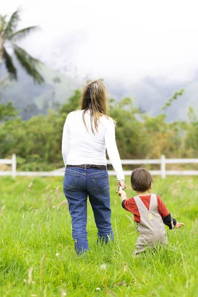
<svg viewBox="0 0 198 297">
<path fill-rule="evenodd" d="M 49 67 L 41 66 L 40 72 L 45 83 L 35 85 L 33 79 L 26 74 L 17 61 L 14 61 L 18 71 L 18 81 L 11 81 L 8 86 L 0 90 L 0 102 L 12 101 L 20 109 L 24 120 L 40 113 L 46 114 L 49 108 L 65 102 L 75 89 L 82 87 L 82 82 L 59 74 Z M 6 74 L 4 65 L 1 68 L 1 77 Z"/>
</svg>

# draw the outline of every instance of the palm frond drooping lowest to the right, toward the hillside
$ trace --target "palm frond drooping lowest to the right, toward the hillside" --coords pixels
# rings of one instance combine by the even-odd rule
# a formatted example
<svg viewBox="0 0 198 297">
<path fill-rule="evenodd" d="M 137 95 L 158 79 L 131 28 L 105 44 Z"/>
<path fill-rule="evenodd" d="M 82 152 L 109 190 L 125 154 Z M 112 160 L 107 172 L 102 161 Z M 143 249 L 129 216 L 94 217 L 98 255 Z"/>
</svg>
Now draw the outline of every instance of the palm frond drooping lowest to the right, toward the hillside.
<svg viewBox="0 0 198 297">
<path fill-rule="evenodd" d="M 33 77 L 34 82 L 43 83 L 44 78 L 38 71 L 38 67 L 42 64 L 39 60 L 33 58 L 25 49 L 18 47 L 15 44 L 12 44 L 14 48 L 14 53 L 16 55 L 17 60 L 21 64 L 21 66 L 26 70 L 26 72 Z"/>
</svg>

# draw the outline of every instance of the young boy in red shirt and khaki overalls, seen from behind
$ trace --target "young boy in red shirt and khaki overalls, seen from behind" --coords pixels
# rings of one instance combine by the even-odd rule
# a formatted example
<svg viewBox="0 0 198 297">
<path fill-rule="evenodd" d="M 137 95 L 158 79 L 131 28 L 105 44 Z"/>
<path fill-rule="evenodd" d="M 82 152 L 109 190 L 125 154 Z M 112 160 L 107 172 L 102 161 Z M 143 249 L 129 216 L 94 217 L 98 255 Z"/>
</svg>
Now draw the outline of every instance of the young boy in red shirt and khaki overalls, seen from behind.
<svg viewBox="0 0 198 297">
<path fill-rule="evenodd" d="M 118 190 L 117 193 L 121 196 L 122 207 L 132 212 L 134 221 L 137 222 L 140 237 L 136 242 L 135 255 L 138 255 L 147 247 L 167 245 L 164 224 L 169 229 L 180 228 L 184 224 L 176 222 L 158 195 L 150 194 L 152 176 L 147 169 L 136 168 L 132 172 L 131 187 L 138 196 L 127 199 L 123 190 Z"/>
</svg>

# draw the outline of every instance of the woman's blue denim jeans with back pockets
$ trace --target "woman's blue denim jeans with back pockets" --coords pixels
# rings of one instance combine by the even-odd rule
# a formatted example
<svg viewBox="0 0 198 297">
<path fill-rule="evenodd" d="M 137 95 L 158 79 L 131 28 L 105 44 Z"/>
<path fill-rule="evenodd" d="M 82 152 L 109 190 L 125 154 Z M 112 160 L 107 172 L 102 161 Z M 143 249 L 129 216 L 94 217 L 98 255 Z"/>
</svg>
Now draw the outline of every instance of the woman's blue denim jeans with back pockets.
<svg viewBox="0 0 198 297">
<path fill-rule="evenodd" d="M 77 253 L 89 250 L 87 240 L 87 198 L 94 212 L 99 239 L 113 240 L 108 172 L 105 169 L 67 167 L 63 191 L 69 205 L 72 236 Z"/>
</svg>

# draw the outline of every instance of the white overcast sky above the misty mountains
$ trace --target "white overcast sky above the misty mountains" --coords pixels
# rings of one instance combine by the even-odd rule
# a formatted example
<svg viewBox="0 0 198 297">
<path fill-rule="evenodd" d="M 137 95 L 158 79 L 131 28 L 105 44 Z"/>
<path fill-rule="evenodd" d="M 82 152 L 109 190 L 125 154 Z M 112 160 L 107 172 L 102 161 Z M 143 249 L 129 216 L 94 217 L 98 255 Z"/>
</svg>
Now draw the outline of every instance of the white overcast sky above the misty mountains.
<svg viewBox="0 0 198 297">
<path fill-rule="evenodd" d="M 190 79 L 197 69 L 196 0 L 7 0 L 0 13 L 18 6 L 20 28 L 42 28 L 23 46 L 50 67 L 129 82 Z"/>
</svg>

